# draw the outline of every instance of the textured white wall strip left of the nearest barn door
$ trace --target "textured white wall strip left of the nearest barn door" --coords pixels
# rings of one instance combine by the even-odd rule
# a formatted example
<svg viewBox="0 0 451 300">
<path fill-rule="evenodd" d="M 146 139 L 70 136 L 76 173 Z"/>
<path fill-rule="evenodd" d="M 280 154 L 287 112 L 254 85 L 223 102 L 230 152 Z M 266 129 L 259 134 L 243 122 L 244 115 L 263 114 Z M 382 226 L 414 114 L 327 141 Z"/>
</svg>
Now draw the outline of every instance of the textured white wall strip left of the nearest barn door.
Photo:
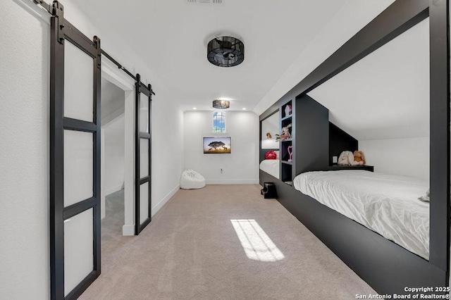
<svg viewBox="0 0 451 300">
<path fill-rule="evenodd" d="M 49 299 L 49 24 L 0 9 L 0 298 Z"/>
</svg>

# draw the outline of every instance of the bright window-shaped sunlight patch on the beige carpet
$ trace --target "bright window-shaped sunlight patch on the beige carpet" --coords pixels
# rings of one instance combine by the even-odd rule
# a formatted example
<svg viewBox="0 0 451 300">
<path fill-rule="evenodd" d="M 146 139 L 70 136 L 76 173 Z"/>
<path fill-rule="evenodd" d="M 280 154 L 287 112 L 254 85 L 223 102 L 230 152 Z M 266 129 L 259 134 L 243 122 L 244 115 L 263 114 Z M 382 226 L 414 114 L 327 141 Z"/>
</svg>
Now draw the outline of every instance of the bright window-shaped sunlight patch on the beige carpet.
<svg viewBox="0 0 451 300">
<path fill-rule="evenodd" d="M 281 261 L 285 256 L 261 229 L 256 220 L 230 220 L 247 258 L 254 261 Z"/>
</svg>

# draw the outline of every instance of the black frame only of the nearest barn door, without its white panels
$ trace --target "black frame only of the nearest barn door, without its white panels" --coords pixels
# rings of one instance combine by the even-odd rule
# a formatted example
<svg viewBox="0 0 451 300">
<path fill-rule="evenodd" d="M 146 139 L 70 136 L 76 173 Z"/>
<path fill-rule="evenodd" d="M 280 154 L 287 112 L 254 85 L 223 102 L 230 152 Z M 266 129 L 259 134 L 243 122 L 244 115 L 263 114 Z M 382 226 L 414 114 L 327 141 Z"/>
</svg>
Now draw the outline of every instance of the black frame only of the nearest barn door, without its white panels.
<svg viewBox="0 0 451 300">
<path fill-rule="evenodd" d="M 63 18 L 63 6 L 51 7 L 50 37 L 50 285 L 51 299 L 77 299 L 101 272 L 100 261 L 100 39 L 91 41 Z M 64 46 L 70 42 L 93 58 L 93 122 L 64 117 Z M 64 130 L 93 135 L 93 196 L 64 207 Z M 93 211 L 93 270 L 65 297 L 64 221 Z"/>
</svg>

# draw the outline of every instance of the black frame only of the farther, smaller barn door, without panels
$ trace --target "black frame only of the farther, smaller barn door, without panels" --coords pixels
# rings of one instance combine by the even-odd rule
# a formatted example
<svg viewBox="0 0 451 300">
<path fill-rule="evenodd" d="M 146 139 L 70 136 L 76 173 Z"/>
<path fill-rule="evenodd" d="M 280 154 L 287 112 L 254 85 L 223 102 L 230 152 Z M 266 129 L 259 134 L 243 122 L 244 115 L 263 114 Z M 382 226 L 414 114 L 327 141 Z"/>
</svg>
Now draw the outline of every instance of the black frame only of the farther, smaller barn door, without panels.
<svg viewBox="0 0 451 300">
<path fill-rule="evenodd" d="M 137 82 L 135 83 L 135 235 L 140 232 L 152 221 L 152 85 L 142 85 L 140 74 L 136 75 Z M 147 120 L 149 120 L 149 132 L 140 132 L 140 94 L 144 94 L 149 99 L 149 111 Z M 149 141 L 149 174 L 145 177 L 140 176 L 140 147 L 141 139 Z M 148 183 L 148 217 L 144 222 L 140 223 L 140 186 Z"/>
</svg>

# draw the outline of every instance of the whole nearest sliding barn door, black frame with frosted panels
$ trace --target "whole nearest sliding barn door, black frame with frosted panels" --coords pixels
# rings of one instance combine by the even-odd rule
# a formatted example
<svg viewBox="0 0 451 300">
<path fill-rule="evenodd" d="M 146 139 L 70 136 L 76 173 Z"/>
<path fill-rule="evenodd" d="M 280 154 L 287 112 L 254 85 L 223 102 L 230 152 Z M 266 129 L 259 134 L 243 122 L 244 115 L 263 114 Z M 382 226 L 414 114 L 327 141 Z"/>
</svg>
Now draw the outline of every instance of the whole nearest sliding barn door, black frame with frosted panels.
<svg viewBox="0 0 451 300">
<path fill-rule="evenodd" d="M 56 7 L 55 7 L 56 6 Z M 54 3 L 50 73 L 51 299 L 76 299 L 100 274 L 100 41 Z"/>
</svg>

